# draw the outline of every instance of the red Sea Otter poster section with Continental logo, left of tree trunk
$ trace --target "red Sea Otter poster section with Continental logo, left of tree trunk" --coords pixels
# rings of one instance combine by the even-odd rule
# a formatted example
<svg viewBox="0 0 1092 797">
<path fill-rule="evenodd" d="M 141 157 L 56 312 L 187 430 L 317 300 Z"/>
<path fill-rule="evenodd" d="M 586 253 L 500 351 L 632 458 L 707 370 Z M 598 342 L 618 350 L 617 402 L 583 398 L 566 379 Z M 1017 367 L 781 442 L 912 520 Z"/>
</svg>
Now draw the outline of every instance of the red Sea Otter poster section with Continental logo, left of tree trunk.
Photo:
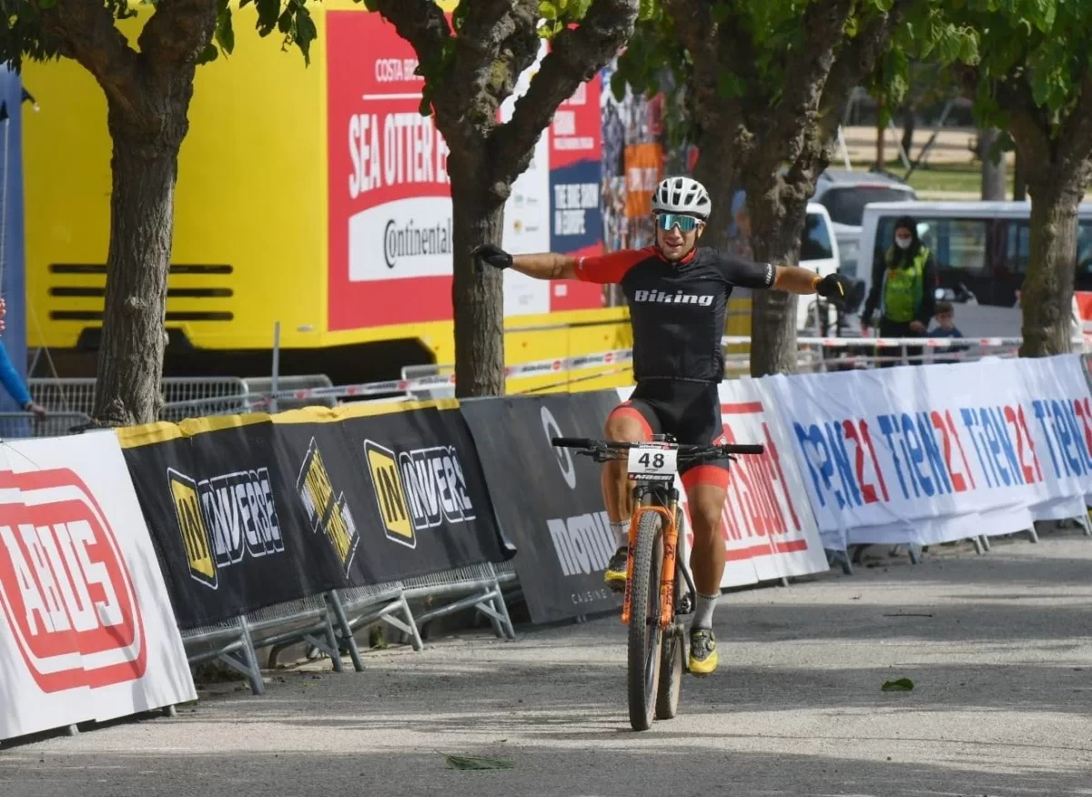
<svg viewBox="0 0 1092 797">
<path fill-rule="evenodd" d="M 327 19 L 330 330 L 450 319 L 448 147 L 413 47 L 379 14 Z"/>
</svg>

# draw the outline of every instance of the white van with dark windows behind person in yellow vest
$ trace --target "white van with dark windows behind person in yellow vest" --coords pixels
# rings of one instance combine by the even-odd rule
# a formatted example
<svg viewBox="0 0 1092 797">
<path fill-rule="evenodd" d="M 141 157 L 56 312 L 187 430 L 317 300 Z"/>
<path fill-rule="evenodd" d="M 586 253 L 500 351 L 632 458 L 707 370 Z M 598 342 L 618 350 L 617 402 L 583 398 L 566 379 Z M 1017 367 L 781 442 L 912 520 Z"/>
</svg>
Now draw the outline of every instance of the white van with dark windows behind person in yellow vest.
<svg viewBox="0 0 1092 797">
<path fill-rule="evenodd" d="M 969 337 L 1020 335 L 1017 293 L 1028 272 L 1030 202 L 877 202 L 865 207 L 857 277 L 871 287 L 873 267 L 891 246 L 894 223 L 912 216 L 937 262 L 938 290 L 956 306 Z M 1092 290 L 1092 204 L 1078 210 L 1077 292 Z M 1073 299 L 1075 307 L 1078 304 Z M 1079 314 L 1078 314 L 1079 318 Z"/>
</svg>

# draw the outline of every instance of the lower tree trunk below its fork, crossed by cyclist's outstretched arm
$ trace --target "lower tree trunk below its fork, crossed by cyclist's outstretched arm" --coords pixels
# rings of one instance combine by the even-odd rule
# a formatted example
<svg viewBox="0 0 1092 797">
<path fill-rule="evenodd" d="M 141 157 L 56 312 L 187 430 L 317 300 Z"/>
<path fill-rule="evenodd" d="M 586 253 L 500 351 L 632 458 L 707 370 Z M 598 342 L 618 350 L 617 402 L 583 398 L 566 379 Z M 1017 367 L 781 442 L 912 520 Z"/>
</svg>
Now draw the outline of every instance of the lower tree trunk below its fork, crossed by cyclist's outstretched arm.
<svg viewBox="0 0 1092 797">
<path fill-rule="evenodd" d="M 786 200 L 787 191 L 762 191 L 747 185 L 751 247 L 760 263 L 796 263 L 807 199 Z M 804 192 L 800 192 L 804 193 Z M 756 290 L 751 308 L 750 372 L 752 377 L 796 371 L 796 311 L 799 299 L 784 290 Z"/>
</svg>

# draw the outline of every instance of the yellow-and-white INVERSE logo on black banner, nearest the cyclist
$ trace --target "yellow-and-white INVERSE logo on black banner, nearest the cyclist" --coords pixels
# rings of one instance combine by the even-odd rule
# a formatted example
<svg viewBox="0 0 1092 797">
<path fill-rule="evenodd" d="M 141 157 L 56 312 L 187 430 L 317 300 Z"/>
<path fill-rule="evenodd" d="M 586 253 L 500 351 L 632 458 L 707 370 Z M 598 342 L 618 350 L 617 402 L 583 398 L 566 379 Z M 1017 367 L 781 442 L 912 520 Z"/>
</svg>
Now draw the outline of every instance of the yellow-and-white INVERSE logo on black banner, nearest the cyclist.
<svg viewBox="0 0 1092 797">
<path fill-rule="evenodd" d="M 364 450 L 388 539 L 415 548 L 417 532 L 441 523 L 465 523 L 476 516 L 453 445 L 395 454 L 365 440 Z"/>
</svg>

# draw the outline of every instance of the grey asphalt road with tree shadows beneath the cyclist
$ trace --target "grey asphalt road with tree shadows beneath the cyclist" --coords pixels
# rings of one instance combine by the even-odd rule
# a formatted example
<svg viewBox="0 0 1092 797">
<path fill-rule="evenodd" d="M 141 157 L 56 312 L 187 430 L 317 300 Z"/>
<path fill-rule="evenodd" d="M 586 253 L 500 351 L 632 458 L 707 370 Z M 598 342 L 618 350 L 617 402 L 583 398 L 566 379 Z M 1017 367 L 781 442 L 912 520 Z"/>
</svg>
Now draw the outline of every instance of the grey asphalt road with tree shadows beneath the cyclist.
<svg viewBox="0 0 1092 797">
<path fill-rule="evenodd" d="M 1092 540 L 939 551 L 725 596 L 720 671 L 643 734 L 601 619 L 219 685 L 177 719 L 0 750 L 0 795 L 1092 795 Z"/>
</svg>

